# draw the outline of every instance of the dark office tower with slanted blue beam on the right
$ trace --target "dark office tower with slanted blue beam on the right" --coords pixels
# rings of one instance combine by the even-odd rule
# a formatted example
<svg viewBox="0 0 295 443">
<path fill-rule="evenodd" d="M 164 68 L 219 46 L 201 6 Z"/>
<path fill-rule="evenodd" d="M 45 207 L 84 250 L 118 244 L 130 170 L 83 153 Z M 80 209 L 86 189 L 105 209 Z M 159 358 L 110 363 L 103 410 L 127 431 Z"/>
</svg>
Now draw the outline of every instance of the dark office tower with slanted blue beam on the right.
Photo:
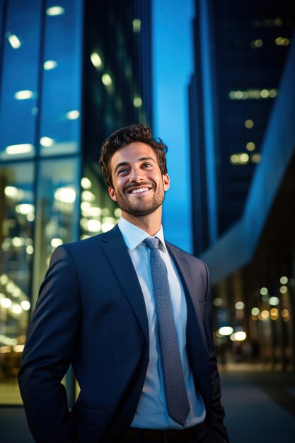
<svg viewBox="0 0 295 443">
<path fill-rule="evenodd" d="M 212 277 L 216 345 L 294 370 L 294 13 L 285 0 L 195 5 L 194 251 Z"/>
</svg>

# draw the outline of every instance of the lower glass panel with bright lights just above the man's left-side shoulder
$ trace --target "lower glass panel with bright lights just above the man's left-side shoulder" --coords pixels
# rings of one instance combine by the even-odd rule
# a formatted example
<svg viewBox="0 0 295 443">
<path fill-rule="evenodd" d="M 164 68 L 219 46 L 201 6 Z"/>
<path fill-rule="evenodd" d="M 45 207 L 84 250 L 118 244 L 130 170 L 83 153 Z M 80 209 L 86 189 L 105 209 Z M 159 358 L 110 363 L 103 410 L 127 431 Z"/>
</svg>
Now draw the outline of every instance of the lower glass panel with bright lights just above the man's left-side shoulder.
<svg viewBox="0 0 295 443">
<path fill-rule="evenodd" d="M 54 249 L 79 238 L 80 159 L 40 163 L 35 221 L 34 304 Z"/>
</svg>

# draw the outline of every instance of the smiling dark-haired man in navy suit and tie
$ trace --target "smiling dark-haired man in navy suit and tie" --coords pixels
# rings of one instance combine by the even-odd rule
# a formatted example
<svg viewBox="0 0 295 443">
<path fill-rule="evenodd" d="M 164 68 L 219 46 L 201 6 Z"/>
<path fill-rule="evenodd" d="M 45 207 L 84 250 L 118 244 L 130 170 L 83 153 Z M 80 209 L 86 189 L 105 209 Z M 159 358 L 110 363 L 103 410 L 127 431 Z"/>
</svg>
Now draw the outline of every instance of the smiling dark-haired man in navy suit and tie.
<svg viewBox="0 0 295 443">
<path fill-rule="evenodd" d="M 100 165 L 122 217 L 52 254 L 19 372 L 36 442 L 228 441 L 207 267 L 163 237 L 166 149 L 145 125 L 111 134 Z"/>
</svg>

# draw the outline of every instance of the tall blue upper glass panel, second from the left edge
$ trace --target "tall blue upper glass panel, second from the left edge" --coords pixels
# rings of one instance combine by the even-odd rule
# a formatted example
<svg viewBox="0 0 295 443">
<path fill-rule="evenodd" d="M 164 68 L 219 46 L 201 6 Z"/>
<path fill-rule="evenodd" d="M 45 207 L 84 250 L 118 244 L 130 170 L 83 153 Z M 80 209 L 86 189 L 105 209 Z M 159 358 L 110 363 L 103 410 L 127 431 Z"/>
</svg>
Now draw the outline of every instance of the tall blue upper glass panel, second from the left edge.
<svg viewBox="0 0 295 443">
<path fill-rule="evenodd" d="M 40 152 L 79 151 L 81 116 L 81 0 L 47 1 Z"/>
</svg>

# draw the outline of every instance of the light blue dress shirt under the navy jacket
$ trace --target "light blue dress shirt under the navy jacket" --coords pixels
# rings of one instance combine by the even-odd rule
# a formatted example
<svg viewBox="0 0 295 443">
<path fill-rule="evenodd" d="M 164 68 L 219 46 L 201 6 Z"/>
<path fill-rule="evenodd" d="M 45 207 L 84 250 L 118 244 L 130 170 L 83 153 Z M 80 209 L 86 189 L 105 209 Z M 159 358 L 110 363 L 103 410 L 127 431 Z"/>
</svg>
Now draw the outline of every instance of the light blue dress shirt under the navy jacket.
<svg viewBox="0 0 295 443">
<path fill-rule="evenodd" d="M 150 251 L 149 248 L 142 243 L 146 237 L 149 237 L 149 234 L 142 229 L 139 229 L 137 226 L 134 226 L 134 224 L 127 222 L 127 220 L 122 217 L 119 220 L 118 226 L 122 232 L 122 236 L 137 272 L 139 284 L 144 294 L 146 314 L 149 323 L 149 364 L 141 398 L 137 406 L 137 412 L 134 415 L 131 426 L 149 429 L 183 429 L 183 426 L 169 417 L 166 406 L 163 369 L 158 352 L 156 333 L 156 306 L 154 301 L 153 283 L 151 280 L 151 266 L 149 262 Z M 190 413 L 187 416 L 185 427 L 191 427 L 204 421 L 205 408 L 202 397 L 195 389 L 192 371 L 187 359 L 185 335 L 187 305 L 185 294 L 173 260 L 171 260 L 167 251 L 162 227 L 155 236 L 160 240 L 159 251 L 166 263 L 168 271 L 170 296 L 175 318 L 180 359 L 183 365 L 187 396 L 190 401 Z"/>
</svg>

